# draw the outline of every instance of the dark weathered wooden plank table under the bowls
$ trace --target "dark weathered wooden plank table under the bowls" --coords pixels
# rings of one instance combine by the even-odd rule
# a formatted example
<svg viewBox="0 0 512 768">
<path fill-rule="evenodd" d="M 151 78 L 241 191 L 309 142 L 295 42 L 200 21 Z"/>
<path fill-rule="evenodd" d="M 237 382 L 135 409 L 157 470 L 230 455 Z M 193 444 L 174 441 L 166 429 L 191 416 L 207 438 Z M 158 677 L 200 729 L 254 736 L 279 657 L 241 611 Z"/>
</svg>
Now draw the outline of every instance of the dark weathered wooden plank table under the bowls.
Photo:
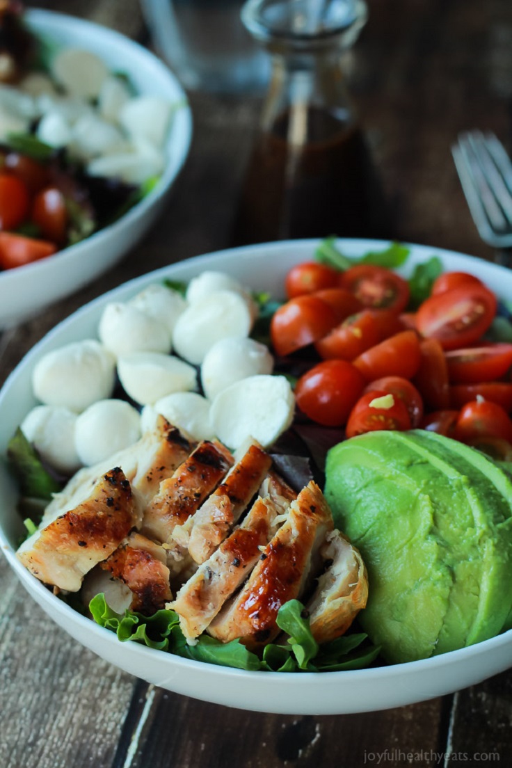
<svg viewBox="0 0 512 768">
<path fill-rule="evenodd" d="M 118 28 L 143 44 L 136 0 L 35 2 Z M 350 63 L 352 91 L 400 237 L 487 259 L 451 162 L 457 131 L 491 128 L 510 148 L 508 0 L 369 0 Z M 253 98 L 190 94 L 190 159 L 167 211 L 116 270 L 6 333 L 0 382 L 59 320 L 104 290 L 225 247 L 259 114 Z M 282 717 L 231 710 L 148 686 L 61 634 L 0 561 L 2 768 L 452 766 L 504 764 L 512 750 L 512 674 L 395 710 Z M 489 753 L 491 755 L 489 756 Z M 480 759 L 479 759 L 480 757 Z M 458 760 L 457 760 L 458 758 Z"/>
</svg>

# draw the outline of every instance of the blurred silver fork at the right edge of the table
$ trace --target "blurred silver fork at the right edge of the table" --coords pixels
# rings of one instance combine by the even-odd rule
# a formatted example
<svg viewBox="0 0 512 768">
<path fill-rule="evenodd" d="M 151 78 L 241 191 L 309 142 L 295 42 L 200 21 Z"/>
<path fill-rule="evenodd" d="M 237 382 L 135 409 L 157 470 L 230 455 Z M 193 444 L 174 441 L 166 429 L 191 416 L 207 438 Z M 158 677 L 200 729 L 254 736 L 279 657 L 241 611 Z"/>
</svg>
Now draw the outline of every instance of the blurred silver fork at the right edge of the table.
<svg viewBox="0 0 512 768">
<path fill-rule="evenodd" d="M 467 131 L 451 153 L 480 237 L 494 248 L 512 248 L 512 162 L 503 144 L 493 133 Z"/>
</svg>

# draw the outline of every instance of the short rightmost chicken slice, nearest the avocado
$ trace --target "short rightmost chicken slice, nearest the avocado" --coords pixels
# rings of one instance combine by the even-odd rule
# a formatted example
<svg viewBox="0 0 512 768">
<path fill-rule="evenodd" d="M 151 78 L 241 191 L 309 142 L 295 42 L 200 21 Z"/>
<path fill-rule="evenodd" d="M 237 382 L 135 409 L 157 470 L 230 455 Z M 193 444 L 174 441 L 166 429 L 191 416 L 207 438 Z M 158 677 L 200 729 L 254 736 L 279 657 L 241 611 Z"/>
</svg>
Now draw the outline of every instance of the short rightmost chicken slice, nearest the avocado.
<svg viewBox="0 0 512 768">
<path fill-rule="evenodd" d="M 368 576 L 361 554 L 339 531 L 329 531 L 320 552 L 331 565 L 306 608 L 315 641 L 326 643 L 346 632 L 365 607 Z"/>
</svg>

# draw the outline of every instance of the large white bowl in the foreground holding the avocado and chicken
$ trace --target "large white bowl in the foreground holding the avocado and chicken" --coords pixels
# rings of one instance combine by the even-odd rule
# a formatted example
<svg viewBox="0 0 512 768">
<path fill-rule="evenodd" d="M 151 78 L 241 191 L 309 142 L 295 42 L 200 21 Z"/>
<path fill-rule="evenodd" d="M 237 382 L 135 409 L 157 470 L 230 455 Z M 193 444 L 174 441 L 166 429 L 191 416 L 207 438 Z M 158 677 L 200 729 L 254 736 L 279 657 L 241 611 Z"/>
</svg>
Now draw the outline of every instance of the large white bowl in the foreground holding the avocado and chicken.
<svg viewBox="0 0 512 768">
<path fill-rule="evenodd" d="M 31 372 L 50 349 L 74 339 L 94 336 L 105 304 L 126 300 L 149 283 L 169 276 L 190 280 L 202 270 L 223 270 L 257 290 L 282 296 L 283 279 L 294 263 L 310 260 L 315 240 L 271 243 L 225 250 L 197 257 L 131 280 L 84 306 L 48 333 L 12 372 L 0 392 L 0 455 L 25 414 L 35 405 Z M 348 255 L 385 247 L 375 240 L 345 240 Z M 512 273 L 499 266 L 458 253 L 411 246 L 403 270 L 437 253 L 447 270 L 471 271 L 498 295 L 512 298 Z M 430 659 L 375 669 L 346 672 L 295 673 L 246 672 L 182 659 L 134 642 L 121 643 L 111 631 L 76 613 L 55 597 L 21 566 L 15 557 L 22 525 L 15 512 L 16 487 L 0 464 L 0 547 L 31 597 L 60 627 L 96 654 L 122 669 L 160 687 L 206 701 L 246 710 L 291 714 L 341 714 L 365 712 L 426 700 L 452 693 L 512 666 L 512 631 L 491 640 Z M 72 642 L 70 640 L 70 642 Z"/>
</svg>

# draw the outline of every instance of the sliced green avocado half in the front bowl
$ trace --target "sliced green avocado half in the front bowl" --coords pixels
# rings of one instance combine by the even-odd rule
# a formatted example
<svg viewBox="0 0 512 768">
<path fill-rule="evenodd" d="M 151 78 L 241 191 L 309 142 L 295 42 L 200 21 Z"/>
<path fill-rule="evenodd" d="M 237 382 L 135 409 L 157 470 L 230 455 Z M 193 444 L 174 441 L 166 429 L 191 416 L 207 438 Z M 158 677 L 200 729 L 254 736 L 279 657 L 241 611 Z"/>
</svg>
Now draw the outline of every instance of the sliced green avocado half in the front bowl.
<svg viewBox="0 0 512 768">
<path fill-rule="evenodd" d="M 325 497 L 368 568 L 362 627 L 393 663 L 509 628 L 512 476 L 434 432 L 368 432 L 331 449 Z"/>
</svg>

